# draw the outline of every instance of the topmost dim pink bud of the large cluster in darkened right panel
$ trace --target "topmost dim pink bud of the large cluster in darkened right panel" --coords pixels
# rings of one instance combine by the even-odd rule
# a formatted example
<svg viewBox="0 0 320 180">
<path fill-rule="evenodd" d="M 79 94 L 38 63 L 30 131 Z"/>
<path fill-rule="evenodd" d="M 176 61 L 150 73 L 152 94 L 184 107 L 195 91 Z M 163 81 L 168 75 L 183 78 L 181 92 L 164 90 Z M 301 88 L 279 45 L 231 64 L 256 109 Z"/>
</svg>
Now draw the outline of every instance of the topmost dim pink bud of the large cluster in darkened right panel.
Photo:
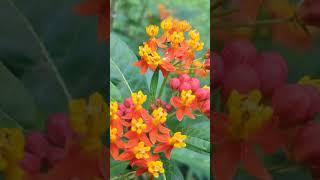
<svg viewBox="0 0 320 180">
<path fill-rule="evenodd" d="M 249 40 L 235 40 L 227 43 L 221 53 L 226 69 L 239 64 L 253 64 L 257 50 Z"/>
</svg>

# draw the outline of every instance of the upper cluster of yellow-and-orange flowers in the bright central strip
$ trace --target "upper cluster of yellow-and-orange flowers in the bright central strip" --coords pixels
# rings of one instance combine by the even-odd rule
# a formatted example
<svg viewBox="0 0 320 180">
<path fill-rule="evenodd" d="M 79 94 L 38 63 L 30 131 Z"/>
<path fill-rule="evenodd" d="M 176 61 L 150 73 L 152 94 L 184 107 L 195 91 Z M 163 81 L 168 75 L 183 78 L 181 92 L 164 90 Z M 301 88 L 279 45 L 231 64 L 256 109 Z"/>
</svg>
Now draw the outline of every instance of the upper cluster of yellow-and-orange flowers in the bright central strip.
<svg viewBox="0 0 320 180">
<path fill-rule="evenodd" d="M 159 26 L 146 27 L 149 40 L 139 46 L 141 59 L 135 63 L 135 66 L 140 68 L 141 74 L 148 69 L 155 71 L 156 68 L 161 70 L 163 76 L 167 76 L 168 73 L 182 74 L 196 70 L 206 73 L 209 71 L 205 63 L 201 61 L 202 59 L 194 60 L 195 52 L 201 51 L 204 47 L 197 30 L 192 30 L 192 26 L 187 21 L 172 17 L 164 19 L 160 26 L 161 35 L 158 35 L 160 34 Z M 160 50 L 162 50 L 161 53 Z"/>
</svg>

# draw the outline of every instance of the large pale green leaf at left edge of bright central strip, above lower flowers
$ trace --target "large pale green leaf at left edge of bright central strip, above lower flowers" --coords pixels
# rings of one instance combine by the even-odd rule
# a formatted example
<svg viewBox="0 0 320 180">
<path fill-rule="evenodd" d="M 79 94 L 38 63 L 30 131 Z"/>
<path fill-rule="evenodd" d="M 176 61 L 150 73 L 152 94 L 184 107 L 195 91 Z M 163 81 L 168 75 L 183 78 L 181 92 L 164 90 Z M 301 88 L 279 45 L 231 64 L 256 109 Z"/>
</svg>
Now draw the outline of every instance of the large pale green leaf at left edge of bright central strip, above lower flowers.
<svg viewBox="0 0 320 180">
<path fill-rule="evenodd" d="M 122 97 L 129 97 L 132 92 L 138 90 L 149 94 L 147 80 L 142 76 L 134 62 L 135 54 L 114 33 L 110 39 L 110 80 L 120 89 Z"/>
</svg>

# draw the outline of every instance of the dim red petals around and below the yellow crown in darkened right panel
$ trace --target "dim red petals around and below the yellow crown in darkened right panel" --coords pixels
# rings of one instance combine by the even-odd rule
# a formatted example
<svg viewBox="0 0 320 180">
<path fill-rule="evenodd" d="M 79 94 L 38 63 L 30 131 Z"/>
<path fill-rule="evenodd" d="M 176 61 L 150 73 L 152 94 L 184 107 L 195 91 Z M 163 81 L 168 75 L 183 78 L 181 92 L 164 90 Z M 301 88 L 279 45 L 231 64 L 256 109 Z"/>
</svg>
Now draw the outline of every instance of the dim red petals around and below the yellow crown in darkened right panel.
<svg viewBox="0 0 320 180">
<path fill-rule="evenodd" d="M 282 145 L 282 137 L 273 120 L 248 139 L 237 139 L 230 136 L 230 119 L 222 114 L 213 119 L 215 160 L 213 174 L 216 179 L 233 179 L 240 163 L 249 174 L 258 179 L 271 179 L 254 148 L 260 145 L 267 154 L 274 153 Z"/>
</svg>

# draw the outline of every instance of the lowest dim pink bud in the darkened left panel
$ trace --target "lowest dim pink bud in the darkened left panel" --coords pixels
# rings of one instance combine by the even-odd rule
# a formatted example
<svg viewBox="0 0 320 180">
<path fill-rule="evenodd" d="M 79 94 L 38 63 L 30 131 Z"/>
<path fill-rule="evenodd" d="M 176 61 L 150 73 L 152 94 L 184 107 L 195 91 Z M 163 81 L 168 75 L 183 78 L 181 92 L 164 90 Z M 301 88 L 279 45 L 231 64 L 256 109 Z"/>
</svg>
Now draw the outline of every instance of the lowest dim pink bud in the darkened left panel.
<svg viewBox="0 0 320 180">
<path fill-rule="evenodd" d="M 32 153 L 25 152 L 21 167 L 30 173 L 39 173 L 41 169 L 41 159 Z"/>
</svg>

